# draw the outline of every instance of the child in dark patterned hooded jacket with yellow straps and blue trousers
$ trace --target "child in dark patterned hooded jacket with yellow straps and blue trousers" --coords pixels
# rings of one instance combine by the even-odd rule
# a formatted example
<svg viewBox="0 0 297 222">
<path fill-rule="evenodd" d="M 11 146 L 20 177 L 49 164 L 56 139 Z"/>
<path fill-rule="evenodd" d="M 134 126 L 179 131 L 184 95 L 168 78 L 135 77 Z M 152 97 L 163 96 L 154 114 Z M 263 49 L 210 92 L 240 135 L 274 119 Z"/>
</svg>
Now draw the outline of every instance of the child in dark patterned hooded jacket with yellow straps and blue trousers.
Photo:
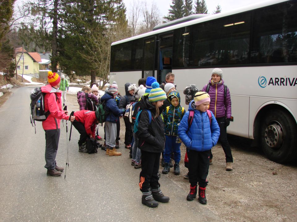
<svg viewBox="0 0 297 222">
<path fill-rule="evenodd" d="M 179 92 L 172 91 L 168 98 L 170 106 L 167 106 L 165 112 L 163 111 L 164 131 L 165 131 L 165 148 L 164 148 L 164 169 L 162 174 L 167 174 L 170 171 L 170 156 L 174 153 L 174 174 L 179 175 L 179 161 L 180 161 L 180 140 L 177 136 L 178 124 L 185 114 L 185 108 L 180 105 Z"/>
</svg>

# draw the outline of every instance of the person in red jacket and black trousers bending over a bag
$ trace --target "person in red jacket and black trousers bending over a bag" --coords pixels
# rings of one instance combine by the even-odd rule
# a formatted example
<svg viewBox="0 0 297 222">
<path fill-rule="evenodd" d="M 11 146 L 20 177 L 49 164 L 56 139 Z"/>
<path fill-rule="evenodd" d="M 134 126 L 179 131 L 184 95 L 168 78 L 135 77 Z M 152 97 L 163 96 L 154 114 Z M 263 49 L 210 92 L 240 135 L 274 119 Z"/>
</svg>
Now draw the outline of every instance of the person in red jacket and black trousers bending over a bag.
<svg viewBox="0 0 297 222">
<path fill-rule="evenodd" d="M 75 120 L 73 126 L 80 133 L 80 140 L 78 141 L 78 151 L 87 153 L 88 150 L 85 147 L 87 137 L 95 139 L 95 128 L 99 121 L 96 118 L 95 111 L 80 110 L 73 114 Z"/>
</svg>

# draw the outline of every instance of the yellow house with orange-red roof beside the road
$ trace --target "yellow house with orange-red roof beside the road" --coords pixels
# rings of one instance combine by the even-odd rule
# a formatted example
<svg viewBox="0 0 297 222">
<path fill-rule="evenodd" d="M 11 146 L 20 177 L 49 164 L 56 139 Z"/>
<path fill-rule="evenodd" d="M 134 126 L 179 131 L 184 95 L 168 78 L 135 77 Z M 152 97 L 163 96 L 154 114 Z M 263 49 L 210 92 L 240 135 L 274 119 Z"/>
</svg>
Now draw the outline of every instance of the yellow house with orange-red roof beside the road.
<svg viewBox="0 0 297 222">
<path fill-rule="evenodd" d="M 24 50 L 24 60 L 22 56 L 23 48 L 15 49 L 15 56 L 17 62 L 18 74 L 33 76 L 39 78 L 39 62 L 41 62 L 41 57 L 38 52 L 27 52 Z"/>
</svg>

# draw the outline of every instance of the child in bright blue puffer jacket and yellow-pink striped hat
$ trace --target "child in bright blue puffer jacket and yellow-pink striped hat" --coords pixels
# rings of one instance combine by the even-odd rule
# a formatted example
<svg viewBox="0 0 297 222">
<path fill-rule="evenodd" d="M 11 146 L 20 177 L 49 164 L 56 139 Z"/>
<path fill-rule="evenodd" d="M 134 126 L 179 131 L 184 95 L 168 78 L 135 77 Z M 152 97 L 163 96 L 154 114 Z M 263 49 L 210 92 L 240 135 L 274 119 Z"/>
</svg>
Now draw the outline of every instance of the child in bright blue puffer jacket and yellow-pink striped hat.
<svg viewBox="0 0 297 222">
<path fill-rule="evenodd" d="M 206 204 L 205 187 L 209 170 L 210 150 L 217 144 L 220 136 L 220 127 L 216 118 L 211 113 L 212 121 L 206 112 L 209 109 L 210 97 L 207 92 L 196 92 L 194 100 L 189 104 L 189 109 L 183 116 L 178 128 L 179 138 L 187 147 L 189 159 L 189 182 L 190 193 L 187 200 L 193 200 L 197 195 L 197 183 L 199 185 L 198 201 Z M 189 115 L 194 111 L 192 124 L 189 127 Z"/>
</svg>

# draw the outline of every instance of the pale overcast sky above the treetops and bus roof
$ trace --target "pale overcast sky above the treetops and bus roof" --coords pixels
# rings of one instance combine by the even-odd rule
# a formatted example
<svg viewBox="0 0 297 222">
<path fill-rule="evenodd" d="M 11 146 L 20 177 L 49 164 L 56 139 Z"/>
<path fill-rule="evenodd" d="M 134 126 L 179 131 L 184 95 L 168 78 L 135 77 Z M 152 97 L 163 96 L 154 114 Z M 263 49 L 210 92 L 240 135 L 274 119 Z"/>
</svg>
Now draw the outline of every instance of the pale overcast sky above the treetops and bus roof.
<svg viewBox="0 0 297 222">
<path fill-rule="evenodd" d="M 131 8 L 131 4 L 133 1 L 137 0 L 123 0 L 127 7 L 127 13 L 129 13 L 129 10 Z M 158 9 L 160 11 L 161 17 L 168 14 L 168 10 L 170 9 L 170 4 L 172 4 L 172 0 L 146 0 L 148 5 L 150 5 L 150 2 L 155 2 L 158 6 Z M 196 0 L 193 0 L 193 4 L 196 2 Z M 206 0 L 206 6 L 209 14 L 212 14 L 213 11 L 216 9 L 217 4 L 221 6 L 222 12 L 226 12 L 229 10 L 233 10 L 242 6 L 251 5 L 257 2 L 265 2 L 265 0 Z"/>
</svg>

